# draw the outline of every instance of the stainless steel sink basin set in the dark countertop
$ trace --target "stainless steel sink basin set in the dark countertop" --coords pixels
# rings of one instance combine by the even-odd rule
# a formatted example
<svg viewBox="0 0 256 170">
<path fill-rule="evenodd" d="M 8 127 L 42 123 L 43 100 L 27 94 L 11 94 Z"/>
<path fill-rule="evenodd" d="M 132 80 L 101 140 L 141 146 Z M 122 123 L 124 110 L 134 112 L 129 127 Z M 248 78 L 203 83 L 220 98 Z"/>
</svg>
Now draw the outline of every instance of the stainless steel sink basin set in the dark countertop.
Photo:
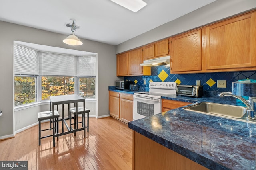
<svg viewBox="0 0 256 170">
<path fill-rule="evenodd" d="M 199 104 L 184 107 L 183 109 L 221 117 L 242 118 L 246 114 L 247 107 L 212 102 L 201 102 Z"/>
</svg>

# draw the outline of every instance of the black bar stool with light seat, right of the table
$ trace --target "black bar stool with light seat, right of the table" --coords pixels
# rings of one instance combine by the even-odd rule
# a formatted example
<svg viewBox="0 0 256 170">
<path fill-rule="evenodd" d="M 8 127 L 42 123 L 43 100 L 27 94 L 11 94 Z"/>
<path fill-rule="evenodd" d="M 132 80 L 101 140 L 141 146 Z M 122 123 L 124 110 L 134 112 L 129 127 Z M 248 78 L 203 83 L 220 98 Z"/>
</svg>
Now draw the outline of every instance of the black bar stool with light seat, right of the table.
<svg viewBox="0 0 256 170">
<path fill-rule="evenodd" d="M 76 107 L 72 107 L 70 112 L 74 115 L 74 129 L 78 129 L 78 123 L 82 123 L 82 127 L 87 128 L 87 132 L 89 132 L 89 109 L 84 108 L 83 106 L 78 107 L 76 111 Z M 87 113 L 87 126 L 85 126 L 85 113 Z M 78 115 L 82 114 L 82 121 L 78 122 Z M 74 132 L 76 135 L 76 132 Z M 85 134 L 84 134 L 85 135 Z"/>
</svg>

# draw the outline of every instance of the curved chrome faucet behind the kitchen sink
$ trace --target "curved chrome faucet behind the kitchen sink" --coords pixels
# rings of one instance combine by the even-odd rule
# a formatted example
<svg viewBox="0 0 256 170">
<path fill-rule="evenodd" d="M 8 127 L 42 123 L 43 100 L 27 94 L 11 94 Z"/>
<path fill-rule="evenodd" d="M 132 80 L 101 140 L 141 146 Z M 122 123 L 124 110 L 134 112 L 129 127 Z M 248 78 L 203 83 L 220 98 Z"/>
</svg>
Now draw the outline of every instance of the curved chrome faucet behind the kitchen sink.
<svg viewBox="0 0 256 170">
<path fill-rule="evenodd" d="M 222 92 L 222 93 L 218 94 L 218 96 L 219 97 L 232 96 L 234 98 L 241 100 L 248 107 L 248 109 L 247 109 L 248 118 L 254 119 L 254 101 L 253 101 L 252 97 L 249 97 L 248 100 L 245 100 L 241 96 L 234 95 L 231 92 Z"/>
</svg>

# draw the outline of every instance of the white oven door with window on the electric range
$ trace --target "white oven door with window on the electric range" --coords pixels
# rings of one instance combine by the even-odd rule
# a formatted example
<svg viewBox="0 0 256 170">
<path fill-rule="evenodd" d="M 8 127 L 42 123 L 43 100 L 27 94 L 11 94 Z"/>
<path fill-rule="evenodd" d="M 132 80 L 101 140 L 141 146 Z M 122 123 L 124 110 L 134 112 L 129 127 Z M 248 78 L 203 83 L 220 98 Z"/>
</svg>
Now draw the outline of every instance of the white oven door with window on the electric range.
<svg viewBox="0 0 256 170">
<path fill-rule="evenodd" d="M 133 95 L 133 120 L 161 113 L 161 99 Z"/>
</svg>

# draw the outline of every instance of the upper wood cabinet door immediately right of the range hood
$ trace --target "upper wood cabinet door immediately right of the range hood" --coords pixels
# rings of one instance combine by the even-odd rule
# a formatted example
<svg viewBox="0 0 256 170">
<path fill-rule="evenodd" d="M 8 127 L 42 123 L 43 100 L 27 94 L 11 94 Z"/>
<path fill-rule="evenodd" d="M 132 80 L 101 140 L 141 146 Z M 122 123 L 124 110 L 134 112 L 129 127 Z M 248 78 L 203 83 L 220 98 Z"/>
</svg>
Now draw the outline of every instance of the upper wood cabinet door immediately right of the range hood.
<svg viewBox="0 0 256 170">
<path fill-rule="evenodd" d="M 202 70 L 201 37 L 198 30 L 172 38 L 172 72 Z"/>
</svg>

